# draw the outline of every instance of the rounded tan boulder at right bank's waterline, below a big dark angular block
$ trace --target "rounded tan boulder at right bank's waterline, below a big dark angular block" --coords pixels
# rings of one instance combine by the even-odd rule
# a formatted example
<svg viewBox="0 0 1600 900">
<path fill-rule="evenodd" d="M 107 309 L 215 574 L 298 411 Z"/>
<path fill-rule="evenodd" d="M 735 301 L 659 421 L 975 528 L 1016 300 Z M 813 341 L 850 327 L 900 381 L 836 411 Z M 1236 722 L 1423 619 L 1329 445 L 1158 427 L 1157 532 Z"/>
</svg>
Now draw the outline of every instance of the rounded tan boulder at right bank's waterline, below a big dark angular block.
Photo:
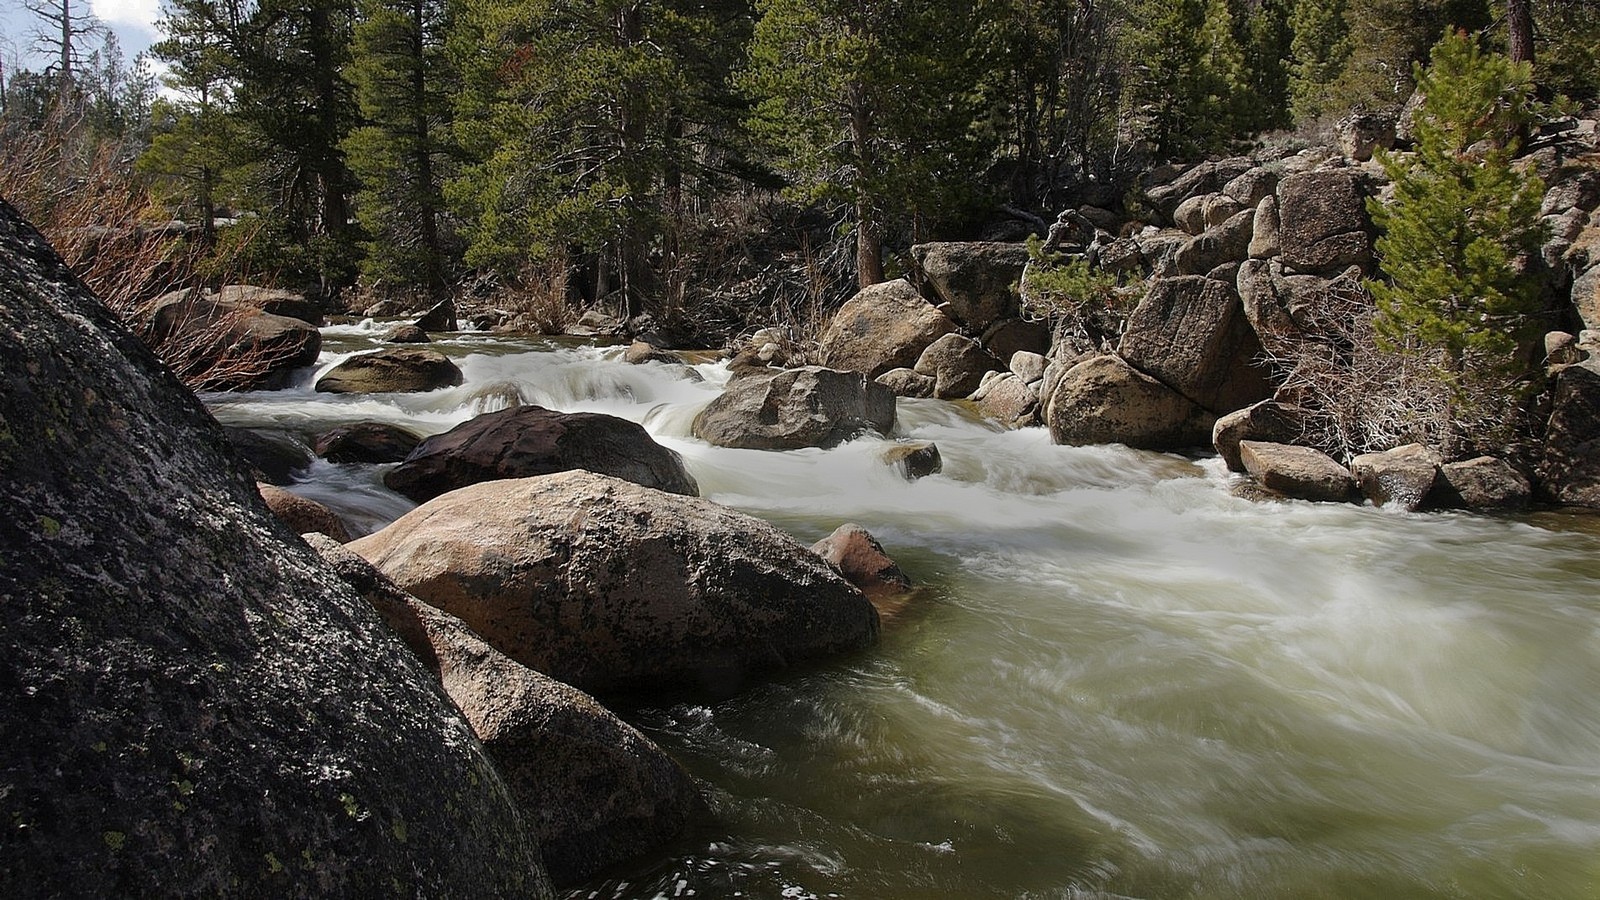
<svg viewBox="0 0 1600 900">
<path fill-rule="evenodd" d="M 1214 421 L 1216 416 L 1114 354 L 1090 357 L 1064 372 L 1045 408 L 1051 440 L 1067 445 L 1202 447 Z"/>
</svg>

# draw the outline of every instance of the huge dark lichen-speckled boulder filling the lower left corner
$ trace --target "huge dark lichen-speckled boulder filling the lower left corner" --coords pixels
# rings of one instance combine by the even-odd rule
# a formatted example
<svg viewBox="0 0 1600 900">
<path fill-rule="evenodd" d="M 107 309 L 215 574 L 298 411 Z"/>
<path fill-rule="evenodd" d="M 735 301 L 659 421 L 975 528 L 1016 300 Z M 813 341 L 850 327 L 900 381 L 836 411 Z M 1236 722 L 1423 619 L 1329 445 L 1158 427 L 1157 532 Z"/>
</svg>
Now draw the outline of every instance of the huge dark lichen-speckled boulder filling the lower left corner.
<svg viewBox="0 0 1600 900">
<path fill-rule="evenodd" d="M 0 423 L 10 894 L 550 895 L 434 677 L 3 202 Z"/>
</svg>

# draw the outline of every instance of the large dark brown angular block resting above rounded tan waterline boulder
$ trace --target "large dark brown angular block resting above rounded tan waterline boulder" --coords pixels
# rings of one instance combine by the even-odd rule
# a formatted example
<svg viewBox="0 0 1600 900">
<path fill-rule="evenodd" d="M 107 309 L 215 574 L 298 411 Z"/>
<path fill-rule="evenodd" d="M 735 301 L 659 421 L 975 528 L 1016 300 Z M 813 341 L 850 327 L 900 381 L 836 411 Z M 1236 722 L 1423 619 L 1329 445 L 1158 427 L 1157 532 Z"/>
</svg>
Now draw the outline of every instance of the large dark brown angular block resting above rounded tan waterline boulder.
<svg viewBox="0 0 1600 900">
<path fill-rule="evenodd" d="M 1261 341 L 1234 285 L 1205 277 L 1155 279 L 1128 317 L 1118 352 L 1214 415 L 1272 396 Z"/>
</svg>

